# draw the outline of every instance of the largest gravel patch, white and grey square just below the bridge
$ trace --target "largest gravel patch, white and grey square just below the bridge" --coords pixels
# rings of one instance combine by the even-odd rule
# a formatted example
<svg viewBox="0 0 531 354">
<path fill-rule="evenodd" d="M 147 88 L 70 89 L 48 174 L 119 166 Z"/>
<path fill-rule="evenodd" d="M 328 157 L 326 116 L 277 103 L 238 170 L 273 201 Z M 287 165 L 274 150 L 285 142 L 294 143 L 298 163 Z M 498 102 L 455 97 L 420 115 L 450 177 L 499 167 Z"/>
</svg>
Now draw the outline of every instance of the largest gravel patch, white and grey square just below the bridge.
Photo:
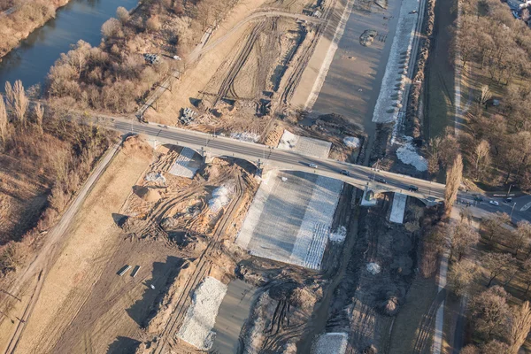
<svg viewBox="0 0 531 354">
<path fill-rule="evenodd" d="M 260 185 L 236 243 L 253 256 L 319 269 L 341 190 L 342 181 L 312 173 L 274 174 Z"/>
</svg>

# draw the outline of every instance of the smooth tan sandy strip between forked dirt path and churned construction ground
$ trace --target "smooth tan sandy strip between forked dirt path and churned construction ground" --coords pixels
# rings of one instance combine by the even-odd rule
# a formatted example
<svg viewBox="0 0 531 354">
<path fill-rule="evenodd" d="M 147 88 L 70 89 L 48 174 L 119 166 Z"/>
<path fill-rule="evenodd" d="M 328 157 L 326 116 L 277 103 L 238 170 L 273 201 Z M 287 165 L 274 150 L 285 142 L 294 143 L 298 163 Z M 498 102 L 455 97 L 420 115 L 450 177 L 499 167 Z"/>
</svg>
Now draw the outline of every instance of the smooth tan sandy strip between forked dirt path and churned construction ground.
<svg viewBox="0 0 531 354">
<path fill-rule="evenodd" d="M 134 149 L 122 150 L 83 204 L 83 212 L 78 215 L 27 322 L 19 352 L 55 351 L 54 344 L 71 327 L 81 305 L 89 301 L 91 287 L 105 270 L 111 271 L 105 269 L 112 256 L 109 250 L 119 242 L 119 228 L 112 215 L 119 211 L 151 158 L 145 152 L 135 152 Z M 105 289 L 101 290 L 103 293 L 99 296 L 104 296 Z M 87 339 L 79 337 L 81 342 Z"/>
</svg>

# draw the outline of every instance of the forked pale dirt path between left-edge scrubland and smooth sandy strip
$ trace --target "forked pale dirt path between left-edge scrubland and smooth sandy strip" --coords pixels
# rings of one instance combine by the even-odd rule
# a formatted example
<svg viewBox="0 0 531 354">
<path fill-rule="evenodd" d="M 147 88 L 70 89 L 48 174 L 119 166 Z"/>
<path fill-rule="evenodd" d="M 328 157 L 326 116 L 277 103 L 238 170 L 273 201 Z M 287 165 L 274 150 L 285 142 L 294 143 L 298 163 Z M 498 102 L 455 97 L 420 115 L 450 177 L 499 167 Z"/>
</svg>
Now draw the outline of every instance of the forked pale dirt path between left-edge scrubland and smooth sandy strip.
<svg viewBox="0 0 531 354">
<path fill-rule="evenodd" d="M 34 260 L 27 266 L 26 270 L 21 273 L 19 279 L 15 282 L 15 286 L 9 290 L 12 294 L 18 294 L 23 286 L 31 281 L 32 278 L 37 276 L 37 285 L 33 294 L 30 296 L 24 313 L 20 317 L 19 324 L 17 325 L 12 338 L 9 341 L 5 353 L 12 353 L 16 350 L 19 339 L 24 332 L 27 321 L 29 320 L 37 300 L 39 299 L 42 284 L 50 271 L 50 267 L 58 257 L 58 250 L 61 249 L 63 242 L 65 241 L 64 235 L 66 229 L 72 224 L 74 216 L 79 212 L 81 204 L 85 201 L 89 191 L 94 187 L 96 181 L 99 180 L 105 169 L 112 161 L 112 158 L 119 150 L 119 144 L 114 145 L 101 159 L 94 172 L 90 174 L 89 179 L 85 182 L 78 195 L 73 199 L 73 202 L 66 209 L 63 217 L 59 220 L 59 223 L 54 227 L 48 235 L 46 235 L 46 242 L 42 246 L 42 249 L 37 253 Z"/>
</svg>

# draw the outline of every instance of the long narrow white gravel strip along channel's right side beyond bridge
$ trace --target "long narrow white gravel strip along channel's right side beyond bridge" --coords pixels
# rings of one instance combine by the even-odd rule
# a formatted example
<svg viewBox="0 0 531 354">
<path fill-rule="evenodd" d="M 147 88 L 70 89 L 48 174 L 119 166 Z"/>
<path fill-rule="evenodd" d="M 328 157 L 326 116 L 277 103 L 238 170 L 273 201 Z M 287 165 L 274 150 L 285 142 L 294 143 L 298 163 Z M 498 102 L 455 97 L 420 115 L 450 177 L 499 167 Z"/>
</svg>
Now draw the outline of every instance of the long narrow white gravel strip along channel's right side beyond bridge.
<svg viewBox="0 0 531 354">
<path fill-rule="evenodd" d="M 410 68 L 409 60 L 412 51 L 413 35 L 419 10 L 418 0 L 404 0 L 400 9 L 400 17 L 396 25 L 396 34 L 389 53 L 388 64 L 381 81 L 380 95 L 374 106 L 373 122 L 389 123 L 398 119 L 398 112 L 403 104 L 405 85 Z"/>
</svg>

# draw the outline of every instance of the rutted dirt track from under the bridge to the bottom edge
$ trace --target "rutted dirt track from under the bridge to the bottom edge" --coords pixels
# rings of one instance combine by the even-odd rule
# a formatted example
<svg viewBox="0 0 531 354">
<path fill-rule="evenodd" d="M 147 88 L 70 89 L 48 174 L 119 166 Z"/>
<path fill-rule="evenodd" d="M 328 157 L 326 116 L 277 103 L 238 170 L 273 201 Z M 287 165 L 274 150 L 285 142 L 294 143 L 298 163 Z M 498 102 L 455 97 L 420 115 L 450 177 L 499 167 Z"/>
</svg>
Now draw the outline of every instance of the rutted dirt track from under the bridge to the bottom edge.
<svg viewBox="0 0 531 354">
<path fill-rule="evenodd" d="M 203 280 L 204 275 L 208 272 L 208 269 L 212 265 L 212 260 L 210 259 L 212 251 L 219 249 L 219 238 L 221 235 L 223 235 L 225 229 L 233 220 L 233 216 L 237 211 L 237 206 L 242 200 L 243 191 L 244 188 L 242 177 L 238 175 L 236 179 L 235 198 L 233 198 L 229 204 L 227 212 L 225 212 L 222 218 L 219 220 L 219 224 L 216 227 L 216 231 L 214 232 L 212 240 L 208 243 L 206 249 L 198 258 L 196 270 L 190 275 L 189 280 L 186 282 L 184 289 L 181 292 L 181 296 L 177 301 L 175 308 L 173 309 L 173 314 L 170 319 L 168 319 L 163 334 L 158 340 L 158 346 L 156 350 L 154 350 L 155 354 L 164 353 L 166 345 L 172 346 L 172 344 L 175 342 L 174 337 L 184 321 L 184 316 L 188 311 L 189 304 L 191 304 L 193 292 L 197 285 L 199 285 L 199 283 Z"/>
</svg>

